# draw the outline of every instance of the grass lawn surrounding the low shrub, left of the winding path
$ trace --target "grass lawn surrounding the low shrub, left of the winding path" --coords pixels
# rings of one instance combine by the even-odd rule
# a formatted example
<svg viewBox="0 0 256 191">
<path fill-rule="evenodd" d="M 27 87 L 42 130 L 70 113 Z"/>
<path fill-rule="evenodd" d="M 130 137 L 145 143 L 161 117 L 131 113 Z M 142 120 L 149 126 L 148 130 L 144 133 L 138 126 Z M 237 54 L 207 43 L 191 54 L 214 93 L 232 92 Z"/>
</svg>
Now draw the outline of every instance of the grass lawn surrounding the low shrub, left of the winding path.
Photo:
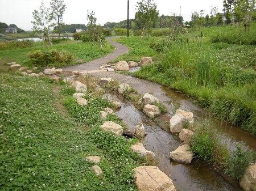
<svg viewBox="0 0 256 191">
<path fill-rule="evenodd" d="M 98 46 L 92 46 L 92 43 L 76 43 L 76 44 L 59 44 L 52 47 L 56 50 L 66 50 L 67 52 L 73 55 L 73 62 L 72 65 L 76 65 L 75 59 L 82 60 L 81 62 L 88 62 L 100 57 L 105 56 L 108 53 L 114 51 L 112 45 L 107 43 L 104 44 L 104 48 L 100 49 Z M 24 66 L 31 66 L 31 63 L 28 60 L 27 53 L 32 52 L 35 50 L 43 50 L 43 49 L 50 49 L 50 48 L 43 48 L 38 46 L 38 44 L 31 48 L 22 48 L 22 49 L 8 49 L 8 50 L 1 50 L 0 57 L 2 59 L 7 59 L 10 61 L 16 61 Z M 63 65 L 54 65 L 54 66 L 63 66 Z"/>
</svg>

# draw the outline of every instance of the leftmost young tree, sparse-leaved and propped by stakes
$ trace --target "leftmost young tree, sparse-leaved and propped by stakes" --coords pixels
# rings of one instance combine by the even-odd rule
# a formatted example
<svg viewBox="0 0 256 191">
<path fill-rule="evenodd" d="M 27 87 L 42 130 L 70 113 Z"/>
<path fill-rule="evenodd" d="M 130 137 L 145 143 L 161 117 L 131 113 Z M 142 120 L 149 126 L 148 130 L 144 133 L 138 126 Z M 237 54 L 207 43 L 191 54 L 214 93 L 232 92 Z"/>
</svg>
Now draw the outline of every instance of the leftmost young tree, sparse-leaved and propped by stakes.
<svg viewBox="0 0 256 191">
<path fill-rule="evenodd" d="M 53 14 L 49 8 L 46 8 L 44 6 L 44 2 L 41 2 L 41 6 L 39 8 L 39 11 L 34 10 L 32 12 L 33 18 L 35 19 L 31 23 L 33 24 L 33 32 L 35 33 L 43 33 L 44 41 L 48 40 L 50 45 L 51 39 L 49 39 L 49 30 L 51 27 L 53 27 L 55 24 L 52 22 L 53 20 Z M 44 43 L 43 43 L 44 46 Z"/>
</svg>

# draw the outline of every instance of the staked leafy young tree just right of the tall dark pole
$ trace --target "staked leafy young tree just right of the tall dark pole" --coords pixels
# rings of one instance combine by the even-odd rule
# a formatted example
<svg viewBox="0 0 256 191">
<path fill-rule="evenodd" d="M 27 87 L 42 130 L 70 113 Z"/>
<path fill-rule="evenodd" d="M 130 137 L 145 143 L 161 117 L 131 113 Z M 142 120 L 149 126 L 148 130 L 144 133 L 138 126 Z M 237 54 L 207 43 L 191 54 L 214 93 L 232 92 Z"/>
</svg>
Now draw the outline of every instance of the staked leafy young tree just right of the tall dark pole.
<svg viewBox="0 0 256 191">
<path fill-rule="evenodd" d="M 159 12 L 156 10 L 156 4 L 152 3 L 151 1 L 154 1 L 154 0 L 142 0 L 141 2 L 138 2 L 138 5 L 137 5 L 138 7 L 137 15 L 138 15 L 138 18 L 143 23 L 142 35 L 144 30 L 146 29 L 147 39 L 149 37 L 151 26 L 153 23 L 156 22 L 159 15 Z"/>
</svg>

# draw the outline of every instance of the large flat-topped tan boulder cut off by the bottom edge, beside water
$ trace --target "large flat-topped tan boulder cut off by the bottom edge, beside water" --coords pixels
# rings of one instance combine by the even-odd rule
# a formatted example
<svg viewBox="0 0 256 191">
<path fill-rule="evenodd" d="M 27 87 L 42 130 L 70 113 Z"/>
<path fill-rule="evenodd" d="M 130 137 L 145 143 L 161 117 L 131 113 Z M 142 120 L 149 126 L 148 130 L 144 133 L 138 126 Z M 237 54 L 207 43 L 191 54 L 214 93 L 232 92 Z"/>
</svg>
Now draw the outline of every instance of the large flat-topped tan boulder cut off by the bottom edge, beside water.
<svg viewBox="0 0 256 191">
<path fill-rule="evenodd" d="M 133 169 L 135 184 L 142 191 L 176 191 L 172 180 L 158 167 L 140 166 Z"/>
</svg>

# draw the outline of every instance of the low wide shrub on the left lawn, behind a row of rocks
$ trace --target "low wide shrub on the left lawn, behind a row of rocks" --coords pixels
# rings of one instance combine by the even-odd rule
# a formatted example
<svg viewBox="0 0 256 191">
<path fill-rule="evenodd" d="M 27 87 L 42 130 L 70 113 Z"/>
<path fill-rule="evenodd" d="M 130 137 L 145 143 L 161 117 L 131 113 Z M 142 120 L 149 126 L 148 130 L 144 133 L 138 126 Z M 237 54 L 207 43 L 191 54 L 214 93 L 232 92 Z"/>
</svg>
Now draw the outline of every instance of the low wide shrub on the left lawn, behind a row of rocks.
<svg viewBox="0 0 256 191">
<path fill-rule="evenodd" d="M 35 66 L 49 66 L 55 62 L 69 64 L 72 61 L 72 54 L 62 50 L 57 52 L 57 50 L 35 50 L 34 52 L 29 52 L 27 56 L 30 61 Z"/>
</svg>

